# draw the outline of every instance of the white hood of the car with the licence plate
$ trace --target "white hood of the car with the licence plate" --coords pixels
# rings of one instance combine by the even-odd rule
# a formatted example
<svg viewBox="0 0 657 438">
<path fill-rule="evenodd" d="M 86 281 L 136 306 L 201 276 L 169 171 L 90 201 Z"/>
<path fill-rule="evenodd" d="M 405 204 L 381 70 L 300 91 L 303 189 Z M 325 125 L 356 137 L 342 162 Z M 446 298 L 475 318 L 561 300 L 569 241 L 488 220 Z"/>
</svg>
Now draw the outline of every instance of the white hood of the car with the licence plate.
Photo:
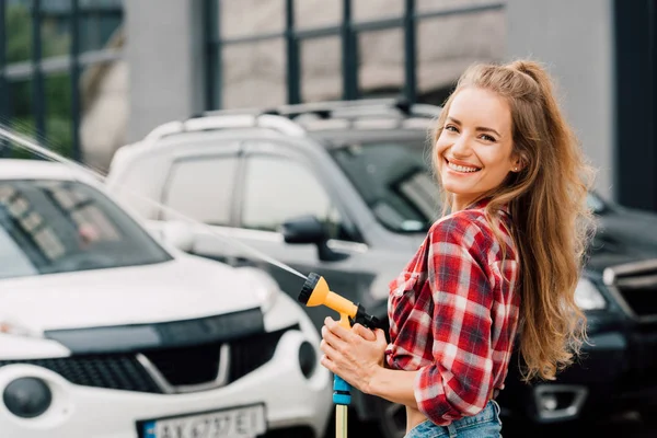
<svg viewBox="0 0 657 438">
<path fill-rule="evenodd" d="M 0 320 L 30 331 L 186 320 L 261 306 L 252 278 L 200 257 L 0 280 Z"/>
</svg>

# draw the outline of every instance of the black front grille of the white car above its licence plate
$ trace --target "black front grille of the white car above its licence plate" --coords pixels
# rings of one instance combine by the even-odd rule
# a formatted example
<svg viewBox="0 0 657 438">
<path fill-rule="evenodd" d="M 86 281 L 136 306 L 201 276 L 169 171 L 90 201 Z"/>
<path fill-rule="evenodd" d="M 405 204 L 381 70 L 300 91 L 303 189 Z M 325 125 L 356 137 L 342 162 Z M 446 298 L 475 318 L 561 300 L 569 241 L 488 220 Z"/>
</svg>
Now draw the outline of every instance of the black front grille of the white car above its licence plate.
<svg viewBox="0 0 657 438">
<path fill-rule="evenodd" d="M 229 381 L 233 382 L 265 365 L 274 356 L 278 341 L 293 325 L 270 333 L 251 335 L 229 343 Z M 171 385 L 201 384 L 217 377 L 221 344 L 141 351 Z M 31 364 L 57 372 L 83 387 L 135 392 L 163 393 L 163 389 L 132 353 L 79 355 L 53 359 L 0 360 L 0 367 Z"/>
</svg>

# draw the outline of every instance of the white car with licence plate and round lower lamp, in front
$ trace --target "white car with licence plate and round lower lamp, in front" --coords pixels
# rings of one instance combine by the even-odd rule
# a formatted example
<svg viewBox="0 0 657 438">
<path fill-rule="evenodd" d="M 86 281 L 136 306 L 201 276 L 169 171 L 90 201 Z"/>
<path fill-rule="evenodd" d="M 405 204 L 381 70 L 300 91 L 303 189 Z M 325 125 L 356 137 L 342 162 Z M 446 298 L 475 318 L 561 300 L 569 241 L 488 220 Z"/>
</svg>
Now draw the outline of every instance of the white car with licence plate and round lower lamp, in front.
<svg viewBox="0 0 657 438">
<path fill-rule="evenodd" d="M 325 430 L 332 381 L 300 304 L 160 241 L 69 165 L 0 160 L 0 303 L 2 438 Z"/>
</svg>

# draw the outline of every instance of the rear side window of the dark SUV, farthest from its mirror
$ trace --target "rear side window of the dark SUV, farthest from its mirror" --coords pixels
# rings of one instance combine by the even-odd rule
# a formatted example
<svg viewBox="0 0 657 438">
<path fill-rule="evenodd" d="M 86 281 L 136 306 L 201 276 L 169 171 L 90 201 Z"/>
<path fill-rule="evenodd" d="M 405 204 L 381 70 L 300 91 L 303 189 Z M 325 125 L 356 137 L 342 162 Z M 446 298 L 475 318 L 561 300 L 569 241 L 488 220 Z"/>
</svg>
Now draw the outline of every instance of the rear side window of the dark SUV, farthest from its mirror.
<svg viewBox="0 0 657 438">
<path fill-rule="evenodd" d="M 176 161 L 166 183 L 163 204 L 199 222 L 228 226 L 237 169 L 235 155 Z M 180 219 L 168 211 L 162 212 L 162 218 Z"/>
</svg>

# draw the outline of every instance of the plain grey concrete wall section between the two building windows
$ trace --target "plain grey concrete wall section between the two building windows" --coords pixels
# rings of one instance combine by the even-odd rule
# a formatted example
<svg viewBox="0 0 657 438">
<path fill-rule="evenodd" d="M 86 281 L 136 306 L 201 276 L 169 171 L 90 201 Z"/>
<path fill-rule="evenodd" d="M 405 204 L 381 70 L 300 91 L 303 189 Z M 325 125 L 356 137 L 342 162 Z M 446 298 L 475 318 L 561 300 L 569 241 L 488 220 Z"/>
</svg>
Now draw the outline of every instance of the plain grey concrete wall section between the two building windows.
<svg viewBox="0 0 657 438">
<path fill-rule="evenodd" d="M 125 1 L 127 141 L 203 110 L 201 0 Z"/>
</svg>

